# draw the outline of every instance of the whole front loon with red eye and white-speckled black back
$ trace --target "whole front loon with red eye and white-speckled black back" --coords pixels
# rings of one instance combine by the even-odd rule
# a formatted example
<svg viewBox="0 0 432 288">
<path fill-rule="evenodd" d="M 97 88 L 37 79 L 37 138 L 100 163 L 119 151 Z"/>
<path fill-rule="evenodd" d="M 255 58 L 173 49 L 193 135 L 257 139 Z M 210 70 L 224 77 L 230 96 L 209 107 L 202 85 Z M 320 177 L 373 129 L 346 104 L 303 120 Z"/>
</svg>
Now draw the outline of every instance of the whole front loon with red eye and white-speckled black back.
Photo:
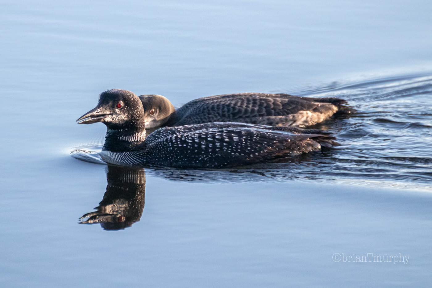
<svg viewBox="0 0 432 288">
<path fill-rule="evenodd" d="M 321 130 L 221 122 L 160 128 L 146 138 L 140 98 L 121 89 L 101 93 L 98 105 L 77 121 L 104 123 L 108 129 L 102 160 L 127 166 L 243 166 L 336 144 L 334 137 Z"/>
</svg>

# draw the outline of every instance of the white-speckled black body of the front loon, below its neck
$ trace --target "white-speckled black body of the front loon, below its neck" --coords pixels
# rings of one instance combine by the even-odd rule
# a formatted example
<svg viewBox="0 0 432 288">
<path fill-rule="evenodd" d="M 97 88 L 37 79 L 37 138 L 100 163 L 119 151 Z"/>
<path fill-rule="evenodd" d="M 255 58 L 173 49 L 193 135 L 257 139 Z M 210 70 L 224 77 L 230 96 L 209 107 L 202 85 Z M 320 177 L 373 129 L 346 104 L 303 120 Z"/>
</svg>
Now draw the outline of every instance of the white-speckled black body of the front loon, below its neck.
<svg viewBox="0 0 432 288">
<path fill-rule="evenodd" d="M 321 130 L 206 123 L 160 128 L 146 138 L 143 149 L 115 153 L 108 147 L 102 151 L 102 159 L 120 165 L 232 167 L 321 150 L 321 146 L 335 145 L 334 139 Z"/>
</svg>

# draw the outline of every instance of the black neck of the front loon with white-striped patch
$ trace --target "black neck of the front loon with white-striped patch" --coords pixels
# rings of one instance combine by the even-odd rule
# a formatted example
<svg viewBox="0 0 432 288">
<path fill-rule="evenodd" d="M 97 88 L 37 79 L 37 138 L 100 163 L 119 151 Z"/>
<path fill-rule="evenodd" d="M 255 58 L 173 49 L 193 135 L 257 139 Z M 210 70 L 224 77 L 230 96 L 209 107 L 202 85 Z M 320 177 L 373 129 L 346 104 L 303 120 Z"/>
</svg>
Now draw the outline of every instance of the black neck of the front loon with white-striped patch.
<svg viewBox="0 0 432 288">
<path fill-rule="evenodd" d="M 102 151 L 130 152 L 145 147 L 146 129 L 107 129 Z"/>
</svg>

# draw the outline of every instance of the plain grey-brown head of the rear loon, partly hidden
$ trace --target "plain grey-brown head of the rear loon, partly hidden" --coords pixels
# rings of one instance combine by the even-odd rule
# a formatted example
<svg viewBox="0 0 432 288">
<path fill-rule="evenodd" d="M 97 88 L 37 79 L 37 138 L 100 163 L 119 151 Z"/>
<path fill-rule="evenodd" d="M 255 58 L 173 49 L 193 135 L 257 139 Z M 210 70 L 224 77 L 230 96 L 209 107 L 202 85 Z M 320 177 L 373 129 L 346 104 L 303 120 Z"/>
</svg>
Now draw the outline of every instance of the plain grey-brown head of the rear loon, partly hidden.
<svg viewBox="0 0 432 288">
<path fill-rule="evenodd" d="M 156 94 L 139 97 L 143 102 L 146 128 L 152 129 L 176 122 L 175 108 L 166 97 Z"/>
</svg>

